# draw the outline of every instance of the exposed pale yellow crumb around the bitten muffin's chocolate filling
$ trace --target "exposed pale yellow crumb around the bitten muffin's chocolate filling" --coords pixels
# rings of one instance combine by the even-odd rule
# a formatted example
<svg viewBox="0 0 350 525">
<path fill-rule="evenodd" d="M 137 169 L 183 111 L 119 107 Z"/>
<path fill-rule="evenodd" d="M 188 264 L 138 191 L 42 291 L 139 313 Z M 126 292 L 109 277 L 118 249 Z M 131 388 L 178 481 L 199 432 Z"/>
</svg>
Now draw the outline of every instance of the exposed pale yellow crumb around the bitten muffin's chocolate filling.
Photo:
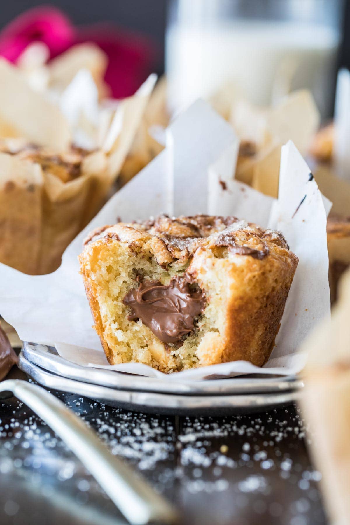
<svg viewBox="0 0 350 525">
<path fill-rule="evenodd" d="M 218 332 L 218 312 L 214 302 L 207 302 L 206 308 L 196 320 L 195 329 L 178 344 L 166 344 L 158 340 L 150 328 L 139 321 L 129 321 L 130 308 L 123 303 L 126 294 L 139 286 L 140 276 L 147 281 L 160 281 L 168 285 L 172 277 L 183 276 L 188 262 L 174 261 L 162 268 L 151 250 L 121 243 L 118 250 L 112 244 L 105 247 L 99 257 L 91 261 L 91 271 L 96 286 L 104 339 L 110 348 L 118 349 L 118 355 L 111 355 L 114 363 L 138 361 L 154 366 L 163 363 L 164 371 L 182 370 L 198 362 L 196 349 L 206 332 Z M 214 274 L 213 274 L 214 275 Z M 222 276 L 220 276 L 222 277 Z M 205 295 L 210 298 L 220 295 L 225 284 L 213 279 L 206 283 Z"/>
</svg>

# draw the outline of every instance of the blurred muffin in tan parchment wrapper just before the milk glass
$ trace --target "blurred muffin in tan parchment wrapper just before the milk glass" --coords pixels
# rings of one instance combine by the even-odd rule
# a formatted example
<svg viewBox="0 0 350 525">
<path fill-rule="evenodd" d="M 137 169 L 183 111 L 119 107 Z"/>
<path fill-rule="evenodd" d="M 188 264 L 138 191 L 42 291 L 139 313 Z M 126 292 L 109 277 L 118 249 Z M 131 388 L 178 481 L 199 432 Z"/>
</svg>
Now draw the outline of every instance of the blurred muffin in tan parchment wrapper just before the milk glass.
<svg viewBox="0 0 350 525">
<path fill-rule="evenodd" d="M 259 108 L 238 98 L 229 121 L 241 139 L 235 177 L 271 197 L 278 196 L 281 146 L 292 140 L 305 155 L 319 128 L 320 114 L 307 90 Z"/>
</svg>

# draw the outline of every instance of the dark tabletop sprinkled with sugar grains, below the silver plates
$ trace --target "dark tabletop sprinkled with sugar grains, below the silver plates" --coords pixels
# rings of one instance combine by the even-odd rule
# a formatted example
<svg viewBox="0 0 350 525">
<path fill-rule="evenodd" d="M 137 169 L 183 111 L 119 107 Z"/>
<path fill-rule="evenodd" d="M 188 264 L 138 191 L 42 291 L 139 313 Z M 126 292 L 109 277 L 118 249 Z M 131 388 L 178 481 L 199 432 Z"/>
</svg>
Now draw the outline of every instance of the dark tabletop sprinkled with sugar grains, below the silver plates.
<svg viewBox="0 0 350 525">
<path fill-rule="evenodd" d="M 293 406 L 246 416 L 150 416 L 55 394 L 175 503 L 184 525 L 326 523 L 320 474 Z M 123 523 L 80 462 L 23 403 L 0 401 L 0 419 L 2 525 Z"/>
</svg>

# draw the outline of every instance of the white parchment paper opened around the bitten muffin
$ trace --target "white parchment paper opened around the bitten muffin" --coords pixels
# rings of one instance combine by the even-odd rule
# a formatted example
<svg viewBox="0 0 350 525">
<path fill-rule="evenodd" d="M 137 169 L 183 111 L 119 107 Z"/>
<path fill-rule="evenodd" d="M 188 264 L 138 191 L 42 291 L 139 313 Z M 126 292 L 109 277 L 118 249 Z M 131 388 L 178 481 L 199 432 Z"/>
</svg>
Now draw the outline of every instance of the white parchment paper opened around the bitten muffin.
<svg viewBox="0 0 350 525">
<path fill-rule="evenodd" d="M 205 102 L 197 101 L 167 130 L 166 149 L 116 193 L 73 240 L 57 271 L 27 276 L 0 265 L 2 316 L 21 339 L 55 344 L 59 354 L 74 363 L 164 377 L 142 364 L 108 364 L 91 328 L 89 304 L 78 273 L 83 238 L 92 228 L 115 223 L 118 216 L 128 222 L 162 212 L 236 215 L 280 230 L 300 259 L 277 346 L 262 369 L 235 361 L 171 374 L 169 380 L 299 372 L 305 361 L 298 352 L 301 341 L 330 314 L 326 243 L 330 203 L 292 142 L 282 148 L 278 201 L 233 180 L 237 151 L 238 140 L 231 126 Z"/>
</svg>

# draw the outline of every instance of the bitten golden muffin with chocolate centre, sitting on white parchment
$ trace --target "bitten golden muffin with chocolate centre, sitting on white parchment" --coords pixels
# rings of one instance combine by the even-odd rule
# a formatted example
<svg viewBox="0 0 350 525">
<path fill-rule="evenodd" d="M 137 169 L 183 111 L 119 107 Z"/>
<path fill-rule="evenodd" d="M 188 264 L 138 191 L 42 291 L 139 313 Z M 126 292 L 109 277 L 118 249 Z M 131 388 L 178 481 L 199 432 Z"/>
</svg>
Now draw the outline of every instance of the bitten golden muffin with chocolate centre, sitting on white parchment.
<svg viewBox="0 0 350 525">
<path fill-rule="evenodd" d="M 105 226 L 79 260 L 108 361 L 163 372 L 262 366 L 298 264 L 280 233 L 207 215 Z"/>
</svg>

